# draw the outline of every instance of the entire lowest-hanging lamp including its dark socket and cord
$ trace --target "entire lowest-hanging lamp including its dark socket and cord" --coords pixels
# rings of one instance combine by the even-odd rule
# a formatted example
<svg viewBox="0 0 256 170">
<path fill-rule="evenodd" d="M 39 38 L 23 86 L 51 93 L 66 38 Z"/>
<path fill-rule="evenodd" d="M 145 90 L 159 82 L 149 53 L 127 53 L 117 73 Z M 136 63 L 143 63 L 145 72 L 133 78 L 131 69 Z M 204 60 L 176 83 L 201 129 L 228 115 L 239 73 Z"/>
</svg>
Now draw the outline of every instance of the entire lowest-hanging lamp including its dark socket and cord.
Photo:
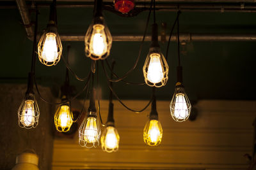
<svg viewBox="0 0 256 170">
<path fill-rule="evenodd" d="M 113 65 L 112 65 L 112 71 L 113 71 Z M 113 74 L 111 74 L 111 79 L 112 78 L 113 78 Z M 110 86 L 113 87 L 112 81 L 110 81 Z M 106 123 L 107 127 L 102 132 L 102 136 L 100 138 L 102 150 L 105 152 L 116 152 L 119 148 L 120 137 L 115 128 L 115 120 L 113 117 L 114 104 L 112 103 L 112 98 L 113 98 L 113 94 L 112 94 L 112 91 L 110 90 L 108 121 Z"/>
</svg>

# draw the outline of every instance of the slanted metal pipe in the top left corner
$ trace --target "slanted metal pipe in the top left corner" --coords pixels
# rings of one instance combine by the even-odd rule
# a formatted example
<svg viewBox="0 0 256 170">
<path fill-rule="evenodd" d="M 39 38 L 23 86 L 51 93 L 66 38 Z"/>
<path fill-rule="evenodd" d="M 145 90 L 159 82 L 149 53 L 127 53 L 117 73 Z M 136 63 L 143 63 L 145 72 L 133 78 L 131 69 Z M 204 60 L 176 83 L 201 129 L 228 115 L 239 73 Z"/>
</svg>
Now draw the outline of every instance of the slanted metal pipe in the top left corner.
<svg viewBox="0 0 256 170">
<path fill-rule="evenodd" d="M 33 40 L 33 28 L 29 18 L 28 8 L 24 0 L 16 0 L 17 8 L 20 11 L 20 16 L 22 18 L 23 25 L 26 29 L 27 36 L 29 39 Z"/>
</svg>

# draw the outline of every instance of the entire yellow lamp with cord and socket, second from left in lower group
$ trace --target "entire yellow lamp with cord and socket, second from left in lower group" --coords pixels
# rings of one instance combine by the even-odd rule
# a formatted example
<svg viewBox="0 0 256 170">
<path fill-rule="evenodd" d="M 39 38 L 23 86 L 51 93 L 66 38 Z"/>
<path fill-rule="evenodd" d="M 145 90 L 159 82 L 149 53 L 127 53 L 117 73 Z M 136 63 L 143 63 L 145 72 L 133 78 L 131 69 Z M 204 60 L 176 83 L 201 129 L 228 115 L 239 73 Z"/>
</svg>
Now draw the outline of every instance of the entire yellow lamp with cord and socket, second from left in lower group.
<svg viewBox="0 0 256 170">
<path fill-rule="evenodd" d="M 70 46 L 68 46 L 68 53 L 69 53 Z M 68 59 L 67 59 L 68 63 Z M 58 107 L 58 110 L 54 114 L 54 124 L 59 132 L 68 132 L 70 127 L 73 124 L 73 114 L 71 111 L 71 104 L 68 100 L 70 94 L 72 93 L 72 87 L 69 85 L 69 76 L 68 76 L 68 69 L 66 69 L 66 77 L 65 83 L 61 87 L 61 103 Z"/>
</svg>

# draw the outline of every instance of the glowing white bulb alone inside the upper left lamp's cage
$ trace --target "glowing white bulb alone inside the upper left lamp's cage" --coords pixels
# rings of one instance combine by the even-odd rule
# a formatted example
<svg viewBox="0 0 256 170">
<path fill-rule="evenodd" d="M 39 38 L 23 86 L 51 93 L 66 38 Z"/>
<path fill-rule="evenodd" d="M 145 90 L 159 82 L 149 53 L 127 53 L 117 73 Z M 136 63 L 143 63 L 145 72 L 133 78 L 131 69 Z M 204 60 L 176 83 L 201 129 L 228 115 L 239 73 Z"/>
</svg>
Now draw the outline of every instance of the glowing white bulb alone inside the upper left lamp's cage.
<svg viewBox="0 0 256 170">
<path fill-rule="evenodd" d="M 56 34 L 46 34 L 46 38 L 42 48 L 42 58 L 47 62 L 54 62 L 58 58 Z"/>
</svg>

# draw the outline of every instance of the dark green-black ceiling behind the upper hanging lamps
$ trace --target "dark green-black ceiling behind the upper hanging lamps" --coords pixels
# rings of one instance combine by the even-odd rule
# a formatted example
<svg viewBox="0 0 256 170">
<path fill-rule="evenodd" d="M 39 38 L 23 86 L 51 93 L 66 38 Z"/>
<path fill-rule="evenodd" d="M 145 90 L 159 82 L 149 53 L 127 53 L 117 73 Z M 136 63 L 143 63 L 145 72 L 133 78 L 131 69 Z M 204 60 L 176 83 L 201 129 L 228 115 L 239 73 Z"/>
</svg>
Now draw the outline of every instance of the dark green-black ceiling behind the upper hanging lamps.
<svg viewBox="0 0 256 170">
<path fill-rule="evenodd" d="M 46 1 L 40 3 L 49 4 Z M 7 7 L 6 4 L 9 6 Z M 1 83 L 26 83 L 31 67 L 33 42 L 26 37 L 19 10 L 14 6 L 15 1 L 1 1 Z M 40 7 L 39 10 L 38 30 L 42 31 L 48 22 L 49 9 Z M 148 11 L 143 11 L 136 17 L 120 17 L 115 13 L 104 11 L 104 17 L 113 35 L 142 35 L 147 15 Z M 161 22 L 167 23 L 167 34 L 170 32 L 175 17 L 176 13 L 173 11 L 157 11 L 156 13 L 159 25 Z M 85 34 L 91 22 L 92 8 L 58 8 L 60 34 Z M 180 15 L 180 32 L 256 34 L 256 13 L 185 11 Z M 150 34 L 150 27 L 148 27 L 148 34 Z M 63 41 L 62 43 L 64 57 L 67 57 L 67 45 L 71 45 L 70 66 L 72 69 L 79 76 L 86 76 L 90 70 L 90 59 L 84 55 L 84 42 Z M 144 81 L 142 67 L 149 45 L 149 42 L 144 43 L 138 67 L 128 76 L 127 80 Z M 167 43 L 160 45 L 165 55 Z M 139 47 L 140 42 L 113 42 L 109 59 L 115 59 L 115 72 L 119 76 L 133 66 Z M 198 99 L 256 100 L 255 49 L 255 41 L 191 41 L 181 46 L 184 85 L 189 99 L 191 101 Z M 173 95 L 177 66 L 177 44 L 175 42 L 170 43 L 168 64 L 169 80 L 165 87 L 157 89 L 158 99 L 170 100 Z M 49 86 L 54 92 L 60 89 L 64 81 L 65 64 L 60 61 L 57 66 L 47 67 L 36 59 L 36 78 L 40 85 Z M 101 67 L 99 78 L 102 97 L 106 99 L 109 93 Z M 73 77 L 71 83 L 77 91 L 81 90 L 84 85 L 84 82 L 77 81 Z M 125 85 L 122 82 L 115 83 L 114 88 L 121 99 L 148 99 L 151 92 L 147 85 Z"/>
</svg>

